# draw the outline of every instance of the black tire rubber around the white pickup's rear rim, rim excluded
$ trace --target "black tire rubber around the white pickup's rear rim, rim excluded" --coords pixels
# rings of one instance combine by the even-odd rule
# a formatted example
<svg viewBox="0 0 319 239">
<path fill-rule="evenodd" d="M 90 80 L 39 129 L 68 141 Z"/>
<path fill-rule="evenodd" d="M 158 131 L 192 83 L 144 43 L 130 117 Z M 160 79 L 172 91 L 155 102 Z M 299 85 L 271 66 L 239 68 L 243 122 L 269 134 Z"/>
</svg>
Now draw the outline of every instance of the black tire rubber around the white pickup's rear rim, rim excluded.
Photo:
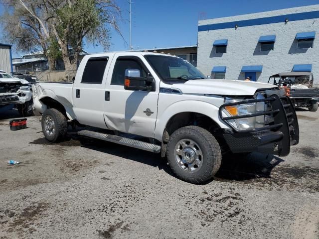
<svg viewBox="0 0 319 239">
<path fill-rule="evenodd" d="M 55 131 L 54 131 L 53 135 L 47 134 L 47 132 L 45 130 L 45 125 L 44 125 L 45 118 L 48 115 L 51 116 L 51 118 L 53 119 L 54 124 L 55 124 Z M 65 116 L 56 109 L 47 109 L 43 113 L 41 125 L 42 125 L 42 131 L 43 131 L 45 138 L 50 142 L 57 142 L 57 141 L 62 140 L 66 136 L 66 133 L 68 130 L 68 124 L 67 124 L 67 120 L 66 120 Z"/>
</svg>

